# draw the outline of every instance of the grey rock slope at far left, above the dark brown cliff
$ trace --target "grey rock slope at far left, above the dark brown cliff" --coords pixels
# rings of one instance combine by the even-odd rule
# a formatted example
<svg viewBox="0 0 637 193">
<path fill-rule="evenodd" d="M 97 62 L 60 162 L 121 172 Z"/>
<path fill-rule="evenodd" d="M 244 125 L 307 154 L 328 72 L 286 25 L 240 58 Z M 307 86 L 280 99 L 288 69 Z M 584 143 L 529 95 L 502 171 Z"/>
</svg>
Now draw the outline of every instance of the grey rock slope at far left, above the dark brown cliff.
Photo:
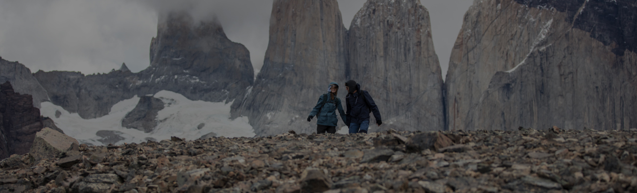
<svg viewBox="0 0 637 193">
<path fill-rule="evenodd" d="M 0 83 L 11 82 L 15 92 L 29 94 L 33 97 L 33 106 L 48 101 L 47 90 L 39 84 L 31 74 L 31 70 L 18 62 L 5 61 L 0 57 Z"/>
</svg>

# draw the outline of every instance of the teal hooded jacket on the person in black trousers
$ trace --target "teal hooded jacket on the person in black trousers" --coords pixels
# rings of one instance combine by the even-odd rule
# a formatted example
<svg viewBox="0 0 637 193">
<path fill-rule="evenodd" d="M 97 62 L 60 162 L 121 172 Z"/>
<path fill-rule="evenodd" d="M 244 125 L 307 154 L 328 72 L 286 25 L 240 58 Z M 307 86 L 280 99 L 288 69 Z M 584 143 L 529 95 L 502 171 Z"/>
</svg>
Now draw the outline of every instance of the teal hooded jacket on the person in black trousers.
<svg viewBox="0 0 637 193">
<path fill-rule="evenodd" d="M 331 82 L 329 85 L 338 85 L 336 82 Z M 321 104 L 323 103 L 323 97 L 327 97 L 327 102 L 325 106 L 318 112 Z M 345 122 L 347 120 L 345 116 L 345 111 L 343 111 L 343 105 L 341 105 L 341 99 L 338 97 L 334 97 L 334 100 L 329 97 L 329 94 L 322 94 L 318 97 L 317 105 L 312 109 L 310 116 L 314 117 L 318 115 L 317 125 L 327 125 L 327 126 L 336 126 L 338 123 L 338 118 L 336 118 L 336 110 L 338 109 L 338 113 L 341 115 L 341 120 Z"/>
</svg>

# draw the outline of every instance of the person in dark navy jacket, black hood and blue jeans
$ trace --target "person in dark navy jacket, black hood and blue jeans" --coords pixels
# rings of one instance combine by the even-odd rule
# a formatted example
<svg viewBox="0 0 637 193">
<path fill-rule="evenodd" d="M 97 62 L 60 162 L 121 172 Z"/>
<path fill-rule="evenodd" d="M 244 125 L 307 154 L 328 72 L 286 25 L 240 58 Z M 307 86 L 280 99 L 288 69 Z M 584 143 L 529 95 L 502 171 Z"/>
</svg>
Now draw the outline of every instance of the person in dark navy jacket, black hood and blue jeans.
<svg viewBox="0 0 637 193">
<path fill-rule="evenodd" d="M 369 129 L 369 113 L 374 113 L 376 125 L 380 126 L 383 122 L 380 119 L 380 111 L 374 103 L 374 99 L 369 96 L 365 90 L 361 90 L 361 85 L 354 80 L 345 82 L 347 96 L 345 96 L 345 105 L 347 106 L 347 122 L 345 124 L 350 128 L 350 133 L 364 132 Z"/>
</svg>

